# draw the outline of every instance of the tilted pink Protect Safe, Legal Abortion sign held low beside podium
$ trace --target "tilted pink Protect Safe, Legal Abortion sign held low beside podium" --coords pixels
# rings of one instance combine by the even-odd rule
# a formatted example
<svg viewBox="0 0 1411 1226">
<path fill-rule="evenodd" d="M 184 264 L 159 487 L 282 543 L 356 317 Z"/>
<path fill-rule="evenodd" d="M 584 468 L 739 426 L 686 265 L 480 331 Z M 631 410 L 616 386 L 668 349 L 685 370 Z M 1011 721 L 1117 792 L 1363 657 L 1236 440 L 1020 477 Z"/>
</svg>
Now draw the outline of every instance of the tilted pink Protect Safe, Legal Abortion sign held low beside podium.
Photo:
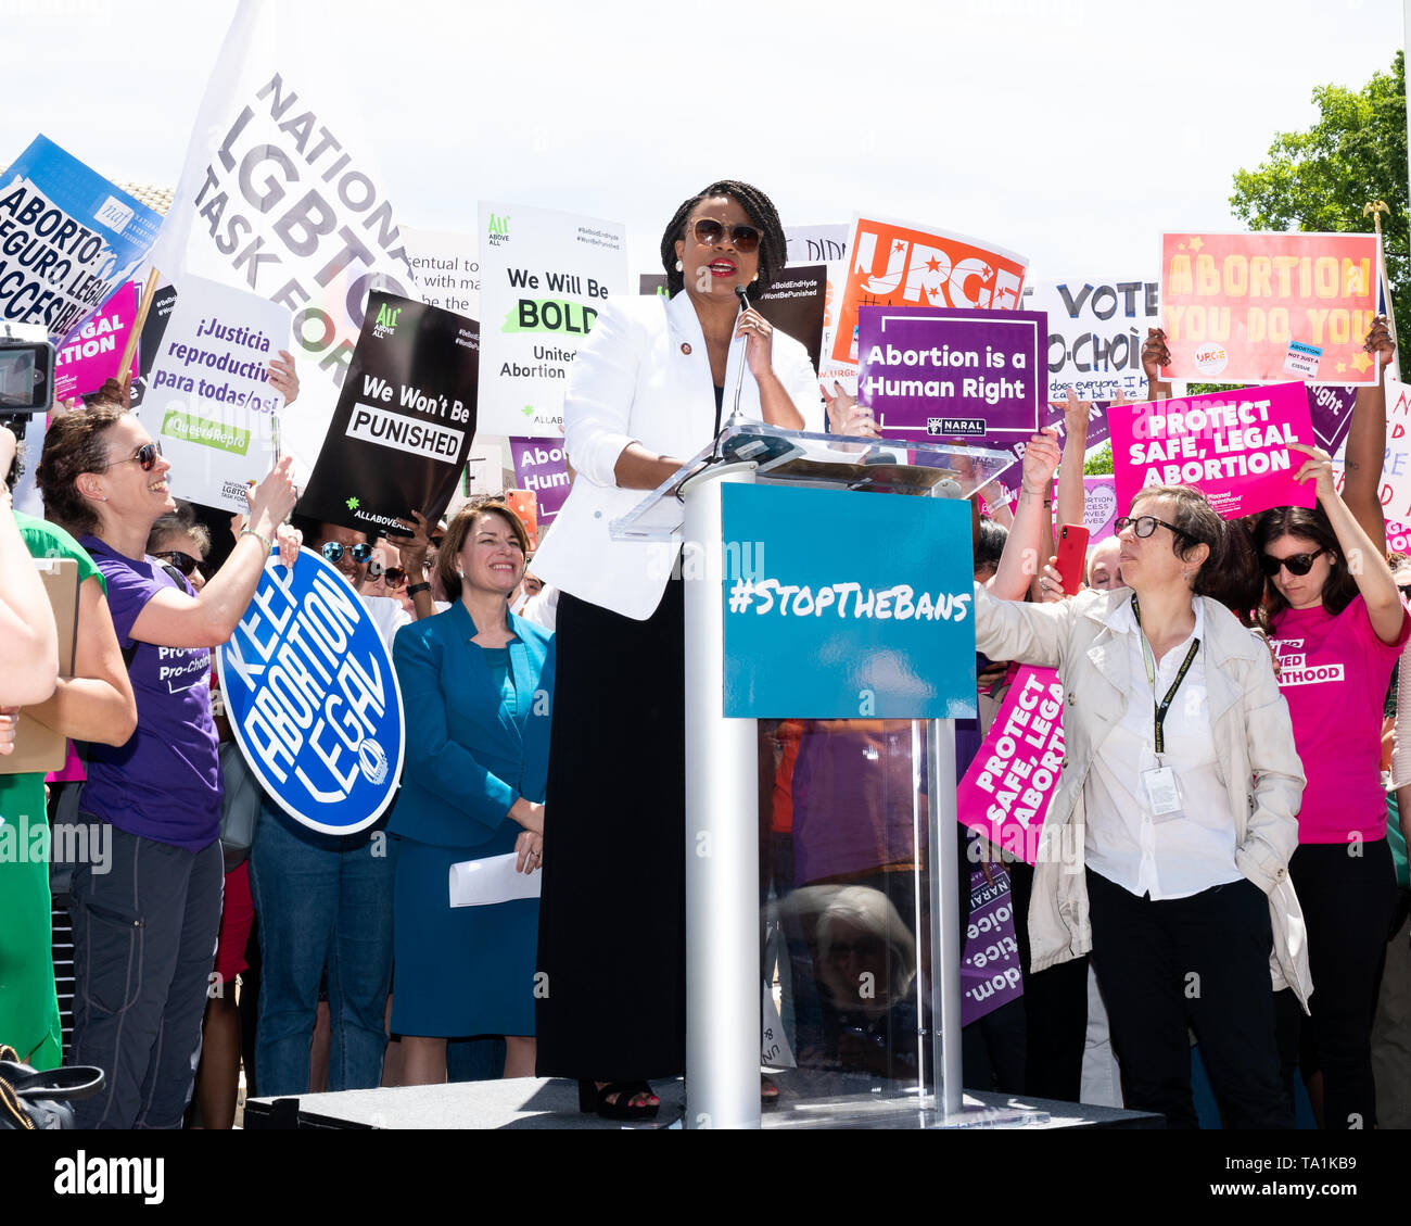
<svg viewBox="0 0 1411 1226">
<path fill-rule="evenodd" d="M 1053 668 L 1020 668 L 989 736 L 955 790 L 959 821 L 1033 864 L 1062 773 L 1062 685 Z"/>
</svg>

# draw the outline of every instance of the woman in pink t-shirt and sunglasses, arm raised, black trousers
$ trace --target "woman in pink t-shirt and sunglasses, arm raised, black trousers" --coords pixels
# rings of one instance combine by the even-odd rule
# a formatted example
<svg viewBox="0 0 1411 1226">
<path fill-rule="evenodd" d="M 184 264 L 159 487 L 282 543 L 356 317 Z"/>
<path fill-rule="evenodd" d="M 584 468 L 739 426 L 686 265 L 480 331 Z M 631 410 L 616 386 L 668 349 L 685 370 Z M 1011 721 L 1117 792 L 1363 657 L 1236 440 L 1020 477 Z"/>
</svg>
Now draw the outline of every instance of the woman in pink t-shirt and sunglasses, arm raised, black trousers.
<svg viewBox="0 0 1411 1226">
<path fill-rule="evenodd" d="M 1288 873 L 1314 996 L 1298 1023 L 1284 1006 L 1281 1047 L 1285 1066 L 1298 1048 L 1305 1079 L 1322 1072 L 1325 1127 L 1370 1129 L 1371 1016 L 1395 901 L 1381 712 L 1411 619 L 1381 551 L 1338 496 L 1328 453 L 1292 446 L 1308 455 L 1297 477 L 1315 482 L 1318 506 L 1267 511 L 1254 530 L 1280 688 L 1308 777 Z"/>
</svg>

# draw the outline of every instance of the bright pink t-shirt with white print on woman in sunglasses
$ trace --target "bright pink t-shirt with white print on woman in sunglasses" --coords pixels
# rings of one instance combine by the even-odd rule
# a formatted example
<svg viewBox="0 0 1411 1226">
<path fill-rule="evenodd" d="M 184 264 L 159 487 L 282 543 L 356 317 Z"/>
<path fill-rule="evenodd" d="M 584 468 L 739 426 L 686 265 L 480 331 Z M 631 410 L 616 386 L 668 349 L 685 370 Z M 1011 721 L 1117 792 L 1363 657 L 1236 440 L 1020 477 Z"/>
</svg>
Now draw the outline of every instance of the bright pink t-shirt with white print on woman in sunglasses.
<svg viewBox="0 0 1411 1226">
<path fill-rule="evenodd" d="M 1364 842 L 1386 838 L 1381 710 L 1411 620 L 1403 616 L 1397 641 L 1383 643 L 1367 602 L 1355 596 L 1336 617 L 1322 606 L 1287 609 L 1274 636 L 1278 686 L 1308 775 L 1298 842 L 1346 843 L 1353 831 Z"/>
</svg>

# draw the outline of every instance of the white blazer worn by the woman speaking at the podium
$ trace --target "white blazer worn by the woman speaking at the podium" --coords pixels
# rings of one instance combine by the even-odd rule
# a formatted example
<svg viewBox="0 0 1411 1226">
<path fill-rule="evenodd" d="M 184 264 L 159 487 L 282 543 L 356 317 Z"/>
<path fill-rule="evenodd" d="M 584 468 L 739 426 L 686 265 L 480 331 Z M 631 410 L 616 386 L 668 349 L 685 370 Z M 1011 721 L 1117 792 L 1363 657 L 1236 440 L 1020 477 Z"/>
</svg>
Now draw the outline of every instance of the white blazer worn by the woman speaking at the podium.
<svg viewBox="0 0 1411 1226">
<path fill-rule="evenodd" d="M 734 410 L 745 340 L 731 342 L 725 364 L 724 422 Z M 809 353 L 775 331 L 770 363 L 804 429 L 823 429 L 823 395 Z M 608 302 L 573 360 L 563 401 L 563 432 L 573 489 L 533 558 L 533 572 L 614 613 L 645 621 L 662 603 L 679 545 L 614 541 L 608 524 L 648 490 L 618 489 L 614 468 L 638 442 L 683 463 L 711 439 L 715 395 L 700 319 L 686 292 Z M 739 411 L 763 419 L 759 384 L 745 367 Z"/>
</svg>

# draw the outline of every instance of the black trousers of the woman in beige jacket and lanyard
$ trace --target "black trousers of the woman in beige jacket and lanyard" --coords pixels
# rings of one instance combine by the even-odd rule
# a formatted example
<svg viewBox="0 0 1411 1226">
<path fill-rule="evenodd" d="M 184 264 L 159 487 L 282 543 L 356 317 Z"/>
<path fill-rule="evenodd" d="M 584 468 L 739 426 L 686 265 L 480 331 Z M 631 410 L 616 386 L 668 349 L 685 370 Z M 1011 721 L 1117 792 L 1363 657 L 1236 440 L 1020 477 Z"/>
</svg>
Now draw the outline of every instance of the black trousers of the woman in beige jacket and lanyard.
<svg viewBox="0 0 1411 1226">
<path fill-rule="evenodd" d="M 1126 1103 L 1170 1129 L 1198 1127 L 1191 1045 L 1232 1129 L 1291 1129 L 1268 977 L 1268 900 L 1240 879 L 1154 903 L 1088 870 L 1092 963 L 1112 1024 Z"/>
</svg>

